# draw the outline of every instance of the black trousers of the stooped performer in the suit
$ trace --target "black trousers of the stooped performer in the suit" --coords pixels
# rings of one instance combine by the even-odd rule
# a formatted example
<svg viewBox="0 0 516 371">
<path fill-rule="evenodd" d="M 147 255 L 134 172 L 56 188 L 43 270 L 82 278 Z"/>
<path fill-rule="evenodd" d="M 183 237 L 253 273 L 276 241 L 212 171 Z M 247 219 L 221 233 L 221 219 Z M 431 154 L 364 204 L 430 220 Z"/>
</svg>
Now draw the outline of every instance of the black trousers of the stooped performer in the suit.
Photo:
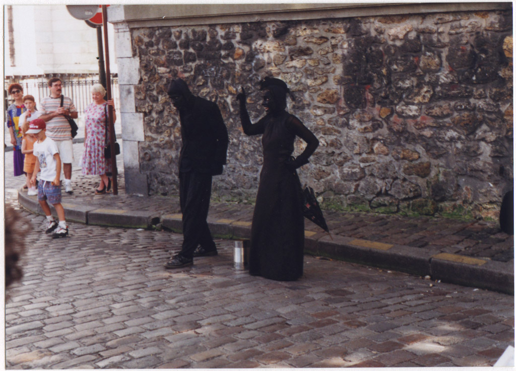
<svg viewBox="0 0 516 371">
<path fill-rule="evenodd" d="M 209 198 L 212 195 L 212 175 L 189 171 L 179 175 L 179 200 L 183 213 L 183 246 L 180 255 L 192 258 L 201 245 L 206 250 L 217 247 L 209 231 Z"/>
</svg>

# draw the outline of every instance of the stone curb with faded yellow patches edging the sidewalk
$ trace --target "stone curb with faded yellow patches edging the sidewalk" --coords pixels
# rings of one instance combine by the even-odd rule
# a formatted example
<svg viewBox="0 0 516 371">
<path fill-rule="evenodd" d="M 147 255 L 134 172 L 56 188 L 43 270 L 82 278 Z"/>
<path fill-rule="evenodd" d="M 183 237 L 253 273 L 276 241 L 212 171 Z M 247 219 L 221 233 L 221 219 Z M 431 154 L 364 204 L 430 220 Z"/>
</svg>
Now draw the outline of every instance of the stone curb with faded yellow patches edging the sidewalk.
<svg viewBox="0 0 516 371">
<path fill-rule="evenodd" d="M 30 212 L 43 214 L 36 196 L 29 197 L 19 191 L 18 202 Z M 96 208 L 72 203 L 62 205 L 67 219 L 73 222 L 126 228 L 150 228 L 160 223 L 174 232 L 182 231 L 181 214 L 160 215 L 156 211 Z M 51 209 L 55 214 L 54 208 Z M 251 235 L 251 223 L 247 220 L 208 216 L 208 225 L 214 237 L 218 238 L 249 239 Z M 507 263 L 312 231 L 305 231 L 304 250 L 309 255 L 430 276 L 434 281 L 514 295 L 514 268 Z"/>
</svg>

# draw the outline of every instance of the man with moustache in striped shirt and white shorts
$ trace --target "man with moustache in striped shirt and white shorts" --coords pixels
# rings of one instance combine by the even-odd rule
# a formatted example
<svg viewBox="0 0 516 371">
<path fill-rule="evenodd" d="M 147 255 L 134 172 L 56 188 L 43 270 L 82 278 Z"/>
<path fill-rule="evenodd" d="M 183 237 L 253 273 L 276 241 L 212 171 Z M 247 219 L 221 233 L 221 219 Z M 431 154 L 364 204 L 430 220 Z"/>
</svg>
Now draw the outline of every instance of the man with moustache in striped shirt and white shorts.
<svg viewBox="0 0 516 371">
<path fill-rule="evenodd" d="M 59 149 L 59 156 L 63 163 L 63 173 L 65 173 L 65 190 L 71 194 L 72 189 L 72 162 L 73 162 L 73 142 L 72 130 L 67 117 L 77 119 L 77 110 L 67 96 L 63 96 L 61 107 L 62 82 L 59 78 L 53 77 L 49 80 L 50 96 L 44 97 L 39 106 L 41 116 L 39 117 L 46 123 L 46 136 L 56 142 Z"/>
</svg>

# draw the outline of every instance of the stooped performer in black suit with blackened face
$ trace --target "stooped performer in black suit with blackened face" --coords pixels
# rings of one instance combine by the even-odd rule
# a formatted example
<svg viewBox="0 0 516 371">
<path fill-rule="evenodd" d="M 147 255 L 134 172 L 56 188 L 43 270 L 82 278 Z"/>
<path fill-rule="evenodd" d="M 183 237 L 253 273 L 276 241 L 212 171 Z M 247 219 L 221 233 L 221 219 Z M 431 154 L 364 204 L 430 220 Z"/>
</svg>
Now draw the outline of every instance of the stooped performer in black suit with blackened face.
<svg viewBox="0 0 516 371">
<path fill-rule="evenodd" d="M 170 82 L 168 96 L 179 111 L 181 154 L 179 160 L 179 198 L 183 213 L 183 246 L 165 268 L 193 265 L 193 257 L 217 255 L 209 231 L 209 198 L 212 176 L 222 174 L 228 150 L 228 129 L 218 106 L 193 95 L 186 82 Z"/>
</svg>

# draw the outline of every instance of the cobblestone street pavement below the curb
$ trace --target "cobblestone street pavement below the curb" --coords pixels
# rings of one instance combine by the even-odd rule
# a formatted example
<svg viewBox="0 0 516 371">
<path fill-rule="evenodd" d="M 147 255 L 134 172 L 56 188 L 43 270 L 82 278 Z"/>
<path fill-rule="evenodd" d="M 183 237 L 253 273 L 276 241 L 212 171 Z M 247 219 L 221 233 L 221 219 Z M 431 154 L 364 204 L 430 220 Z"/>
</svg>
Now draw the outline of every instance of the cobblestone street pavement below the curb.
<svg viewBox="0 0 516 371">
<path fill-rule="evenodd" d="M 514 345 L 510 295 L 308 256 L 300 280 L 271 281 L 236 271 L 224 240 L 167 271 L 181 234 L 70 223 L 56 241 L 21 212 L 9 369 L 492 366 Z"/>
</svg>

